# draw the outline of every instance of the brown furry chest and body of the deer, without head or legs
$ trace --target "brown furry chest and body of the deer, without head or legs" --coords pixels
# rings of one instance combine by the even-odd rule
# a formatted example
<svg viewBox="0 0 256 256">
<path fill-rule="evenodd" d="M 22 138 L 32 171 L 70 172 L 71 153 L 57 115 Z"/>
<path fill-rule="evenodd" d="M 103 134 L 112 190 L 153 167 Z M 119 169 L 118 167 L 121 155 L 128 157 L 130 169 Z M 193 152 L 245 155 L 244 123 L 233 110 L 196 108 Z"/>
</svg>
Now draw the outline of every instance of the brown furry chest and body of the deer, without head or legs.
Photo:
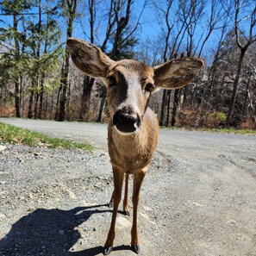
<svg viewBox="0 0 256 256">
<path fill-rule="evenodd" d="M 123 172 L 133 174 L 149 165 L 158 142 L 159 123 L 151 109 L 147 109 L 140 131 L 123 136 L 109 123 L 108 145 L 111 164 Z"/>
</svg>

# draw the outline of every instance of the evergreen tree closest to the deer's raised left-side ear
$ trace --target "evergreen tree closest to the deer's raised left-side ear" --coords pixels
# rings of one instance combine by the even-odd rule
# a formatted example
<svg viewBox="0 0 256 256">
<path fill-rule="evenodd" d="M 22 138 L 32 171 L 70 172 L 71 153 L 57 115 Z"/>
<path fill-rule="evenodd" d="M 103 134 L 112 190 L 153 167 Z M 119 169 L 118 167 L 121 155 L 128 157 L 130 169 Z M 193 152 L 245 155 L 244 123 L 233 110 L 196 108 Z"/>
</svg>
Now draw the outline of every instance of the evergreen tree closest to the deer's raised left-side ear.
<svg viewBox="0 0 256 256">
<path fill-rule="evenodd" d="M 32 59 L 29 70 L 31 86 L 28 105 L 28 118 L 41 118 L 44 96 L 44 84 L 47 74 L 59 66 L 60 28 L 56 21 L 58 6 L 37 3 L 37 16 L 28 20 L 28 51 Z M 34 105 L 34 111 L 33 111 Z"/>
</svg>

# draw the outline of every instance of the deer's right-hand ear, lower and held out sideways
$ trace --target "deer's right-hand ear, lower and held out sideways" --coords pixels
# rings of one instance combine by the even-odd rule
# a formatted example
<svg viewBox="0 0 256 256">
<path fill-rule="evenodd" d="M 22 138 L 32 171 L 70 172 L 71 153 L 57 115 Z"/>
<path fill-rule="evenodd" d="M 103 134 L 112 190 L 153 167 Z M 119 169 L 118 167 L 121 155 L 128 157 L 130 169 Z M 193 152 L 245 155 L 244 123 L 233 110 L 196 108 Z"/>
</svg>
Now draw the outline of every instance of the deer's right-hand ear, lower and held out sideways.
<svg viewBox="0 0 256 256">
<path fill-rule="evenodd" d="M 172 59 L 155 66 L 154 84 L 165 89 L 177 89 L 189 84 L 203 66 L 203 60 L 195 58 Z"/>
</svg>

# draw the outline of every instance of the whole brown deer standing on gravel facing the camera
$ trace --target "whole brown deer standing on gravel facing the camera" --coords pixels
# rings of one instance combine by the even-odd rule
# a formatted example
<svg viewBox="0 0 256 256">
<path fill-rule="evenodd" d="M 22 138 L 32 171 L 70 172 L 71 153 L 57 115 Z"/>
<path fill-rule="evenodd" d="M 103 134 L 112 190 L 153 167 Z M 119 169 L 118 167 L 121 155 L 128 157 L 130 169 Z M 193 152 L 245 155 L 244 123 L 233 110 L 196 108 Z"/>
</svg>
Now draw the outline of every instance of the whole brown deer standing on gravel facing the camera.
<svg viewBox="0 0 256 256">
<path fill-rule="evenodd" d="M 113 249 L 124 177 L 122 206 L 123 212 L 129 215 L 129 175 L 134 176 L 131 250 L 139 254 L 137 226 L 140 188 L 159 137 L 158 118 L 148 107 L 149 99 L 154 91 L 161 88 L 173 90 L 190 84 L 202 68 L 203 60 L 185 57 L 150 67 L 134 59 L 110 59 L 95 45 L 80 39 L 69 38 L 67 47 L 74 65 L 87 76 L 102 78 L 107 87 L 110 116 L 108 148 L 114 190 L 109 203 L 113 207 L 112 219 L 103 255 L 108 255 Z"/>
</svg>

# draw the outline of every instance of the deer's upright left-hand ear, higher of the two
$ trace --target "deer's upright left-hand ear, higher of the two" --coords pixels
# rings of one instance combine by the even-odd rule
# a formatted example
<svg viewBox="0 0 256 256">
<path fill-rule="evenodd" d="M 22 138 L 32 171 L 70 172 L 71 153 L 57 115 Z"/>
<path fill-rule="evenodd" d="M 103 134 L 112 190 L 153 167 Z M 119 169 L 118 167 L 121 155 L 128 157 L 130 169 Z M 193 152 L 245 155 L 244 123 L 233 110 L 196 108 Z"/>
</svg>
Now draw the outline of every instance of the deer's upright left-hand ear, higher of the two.
<svg viewBox="0 0 256 256">
<path fill-rule="evenodd" d="M 90 77 L 104 78 L 109 66 L 115 63 L 98 47 L 89 42 L 69 38 L 66 44 L 75 66 Z"/>
</svg>

